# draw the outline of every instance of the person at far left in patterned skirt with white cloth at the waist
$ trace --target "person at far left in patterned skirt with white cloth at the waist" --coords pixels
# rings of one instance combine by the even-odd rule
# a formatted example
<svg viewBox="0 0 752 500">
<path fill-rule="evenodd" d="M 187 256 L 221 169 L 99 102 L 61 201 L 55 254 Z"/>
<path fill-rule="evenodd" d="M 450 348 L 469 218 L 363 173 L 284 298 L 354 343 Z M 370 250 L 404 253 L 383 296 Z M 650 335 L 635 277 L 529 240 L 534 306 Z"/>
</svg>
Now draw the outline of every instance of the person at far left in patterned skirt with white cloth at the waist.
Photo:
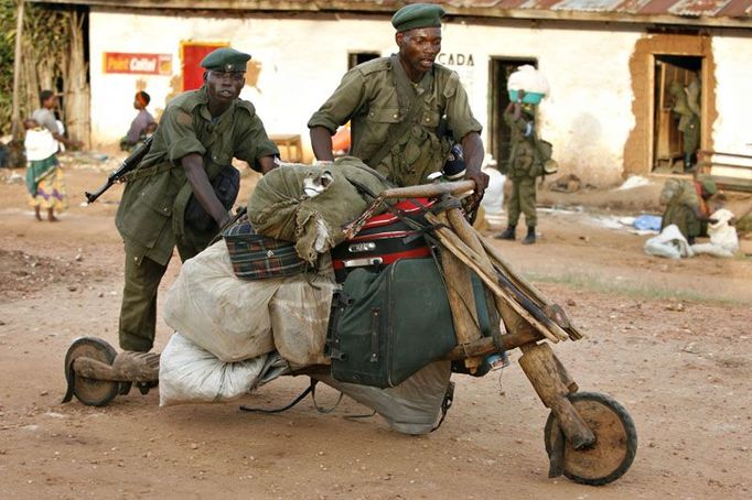
<svg viewBox="0 0 752 500">
<path fill-rule="evenodd" d="M 40 93 L 41 108 L 36 109 L 31 119 L 24 122 L 26 135 L 26 188 L 31 196 L 30 205 L 34 207 L 36 220 L 42 220 L 42 209 L 47 211 L 47 220 L 57 221 L 58 214 L 67 208 L 65 198 L 65 180 L 63 170 L 57 161 L 60 144 L 80 148 L 79 141 L 73 141 L 63 135 L 62 123 L 55 116 L 58 106 L 57 96 L 52 90 Z"/>
</svg>

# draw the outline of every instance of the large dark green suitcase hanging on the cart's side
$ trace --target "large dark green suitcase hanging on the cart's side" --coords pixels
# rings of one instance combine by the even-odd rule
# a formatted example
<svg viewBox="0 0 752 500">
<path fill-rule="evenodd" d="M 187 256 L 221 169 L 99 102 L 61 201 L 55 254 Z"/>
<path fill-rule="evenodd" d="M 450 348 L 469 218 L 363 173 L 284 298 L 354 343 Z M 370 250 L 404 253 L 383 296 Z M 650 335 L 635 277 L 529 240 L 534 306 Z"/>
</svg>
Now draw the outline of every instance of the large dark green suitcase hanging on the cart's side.
<svg viewBox="0 0 752 500">
<path fill-rule="evenodd" d="M 480 280 L 475 306 L 484 333 L 488 314 Z M 433 259 L 400 259 L 382 272 L 352 271 L 332 304 L 327 339 L 332 377 L 395 387 L 456 346 L 452 313 Z"/>
</svg>

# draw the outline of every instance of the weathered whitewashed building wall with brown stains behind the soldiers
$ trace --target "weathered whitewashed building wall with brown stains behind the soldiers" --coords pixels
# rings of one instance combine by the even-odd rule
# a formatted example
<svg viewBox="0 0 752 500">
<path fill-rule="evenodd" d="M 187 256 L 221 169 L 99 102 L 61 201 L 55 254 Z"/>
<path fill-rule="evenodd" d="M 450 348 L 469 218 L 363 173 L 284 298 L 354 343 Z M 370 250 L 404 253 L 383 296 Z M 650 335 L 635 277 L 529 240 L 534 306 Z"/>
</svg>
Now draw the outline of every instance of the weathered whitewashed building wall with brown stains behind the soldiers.
<svg viewBox="0 0 752 500">
<path fill-rule="evenodd" d="M 310 157 L 305 122 L 340 81 L 347 53 L 389 54 L 396 50 L 387 17 L 215 19 L 97 10 L 90 15 L 92 123 L 94 142 L 99 144 L 114 143 L 125 133 L 133 116 L 132 95 L 139 85 L 146 84 L 152 95 L 152 110 L 163 108 L 165 98 L 173 93 L 170 77 L 104 74 L 104 52 L 172 54 L 175 80 L 180 75 L 180 41 L 230 42 L 250 52 L 261 64 L 261 73 L 256 88 L 246 87 L 243 97 L 256 105 L 269 133 L 301 134 Z M 594 30 L 578 23 L 454 22 L 444 25 L 440 62 L 460 73 L 473 111 L 486 126 L 490 59 L 536 58 L 552 89 L 540 107 L 540 134 L 554 143 L 561 172 L 609 185 L 621 181 L 625 165 L 629 172 L 647 173 L 644 143 L 649 142 L 649 137 L 643 135 L 649 124 L 640 123 L 645 113 L 638 115 L 637 108 L 649 106 L 649 96 L 635 98 L 635 90 L 648 89 L 649 84 L 635 86 L 633 81 L 635 75 L 644 75 L 635 73 L 634 66 L 635 45 L 644 36 L 638 29 L 613 25 Z M 750 67 L 751 51 L 737 54 L 735 39 L 721 43 L 718 51 L 723 57 L 732 55 L 723 65 L 724 74 L 742 72 L 739 66 L 743 63 Z M 644 64 L 645 57 L 641 55 L 638 61 Z M 739 95 L 743 84 L 734 85 L 729 88 Z M 734 98 L 730 97 L 724 106 L 735 116 Z M 748 116 L 729 118 L 729 124 L 718 129 L 717 134 L 728 134 L 733 123 Z"/>
</svg>

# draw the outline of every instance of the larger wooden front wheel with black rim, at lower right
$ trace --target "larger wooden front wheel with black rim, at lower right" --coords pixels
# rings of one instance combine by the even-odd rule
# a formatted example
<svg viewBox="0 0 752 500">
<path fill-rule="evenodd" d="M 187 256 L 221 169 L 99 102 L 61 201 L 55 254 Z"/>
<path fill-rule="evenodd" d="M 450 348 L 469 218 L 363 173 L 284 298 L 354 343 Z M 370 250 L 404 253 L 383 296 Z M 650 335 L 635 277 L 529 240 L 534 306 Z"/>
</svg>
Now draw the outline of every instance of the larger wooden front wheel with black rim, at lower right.
<svg viewBox="0 0 752 500">
<path fill-rule="evenodd" d="M 624 406 L 605 394 L 574 392 L 569 394 L 574 409 L 595 434 L 595 443 L 574 449 L 563 443 L 563 475 L 582 485 L 602 486 L 626 472 L 637 452 L 637 431 Z M 554 443 L 562 436 L 554 413 L 546 422 L 546 452 L 549 457 Z M 558 434 L 558 435 L 557 435 Z"/>
</svg>

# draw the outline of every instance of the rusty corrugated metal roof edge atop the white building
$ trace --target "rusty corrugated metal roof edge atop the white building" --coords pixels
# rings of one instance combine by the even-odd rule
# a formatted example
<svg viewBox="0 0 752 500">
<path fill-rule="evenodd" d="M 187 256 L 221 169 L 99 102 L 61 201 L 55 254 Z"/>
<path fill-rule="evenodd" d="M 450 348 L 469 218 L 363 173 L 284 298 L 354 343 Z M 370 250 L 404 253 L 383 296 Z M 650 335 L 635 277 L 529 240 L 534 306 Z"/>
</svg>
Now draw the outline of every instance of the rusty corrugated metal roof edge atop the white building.
<svg viewBox="0 0 752 500">
<path fill-rule="evenodd" d="M 115 9 L 394 12 L 400 0 L 31 0 Z M 452 15 L 691 24 L 752 29 L 752 0 L 423 0 Z"/>
</svg>

